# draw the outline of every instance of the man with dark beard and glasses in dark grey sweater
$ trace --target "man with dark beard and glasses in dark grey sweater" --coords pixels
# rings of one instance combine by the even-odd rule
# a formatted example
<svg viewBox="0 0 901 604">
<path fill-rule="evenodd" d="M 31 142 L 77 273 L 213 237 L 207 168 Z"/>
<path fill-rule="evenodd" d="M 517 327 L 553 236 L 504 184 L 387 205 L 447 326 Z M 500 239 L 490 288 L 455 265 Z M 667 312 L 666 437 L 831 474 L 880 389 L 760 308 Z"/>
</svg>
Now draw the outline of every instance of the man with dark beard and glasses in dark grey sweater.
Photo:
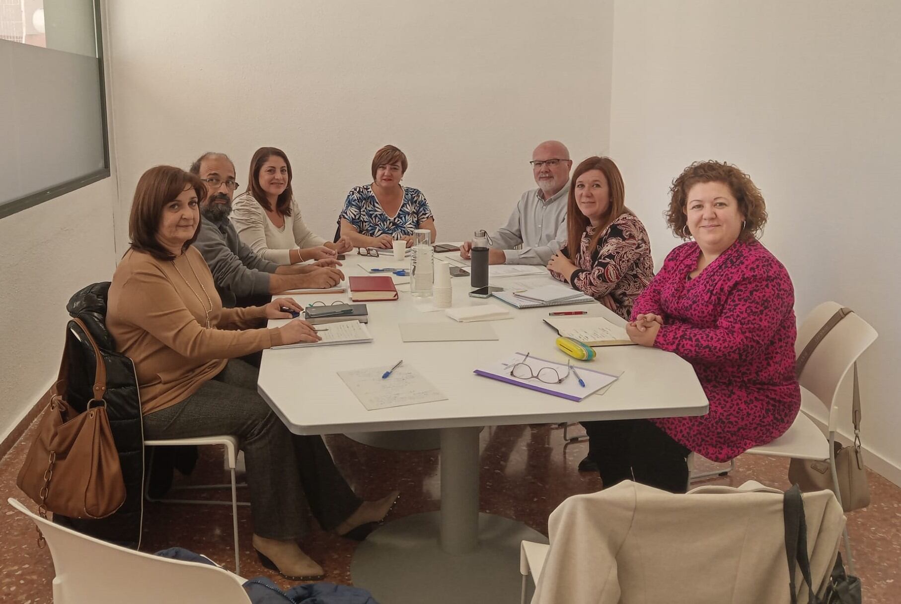
<svg viewBox="0 0 901 604">
<path fill-rule="evenodd" d="M 328 258 L 312 265 L 279 266 L 256 254 L 238 239 L 229 220 L 232 194 L 238 187 L 234 164 L 223 153 L 205 153 L 191 166 L 206 185 L 206 199 L 200 204 L 200 232 L 194 242 L 213 273 L 216 291 L 223 306 L 256 306 L 274 293 L 295 289 L 324 289 L 341 283 L 344 275 Z"/>
</svg>

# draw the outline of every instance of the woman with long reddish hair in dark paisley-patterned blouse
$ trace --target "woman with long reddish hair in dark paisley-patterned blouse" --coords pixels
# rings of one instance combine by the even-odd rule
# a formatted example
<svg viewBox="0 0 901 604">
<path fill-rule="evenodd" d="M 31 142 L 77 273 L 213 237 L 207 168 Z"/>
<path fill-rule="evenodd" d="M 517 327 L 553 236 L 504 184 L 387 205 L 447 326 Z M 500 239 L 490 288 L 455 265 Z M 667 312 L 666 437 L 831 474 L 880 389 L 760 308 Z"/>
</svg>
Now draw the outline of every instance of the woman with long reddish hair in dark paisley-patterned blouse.
<svg viewBox="0 0 901 604">
<path fill-rule="evenodd" d="M 551 275 L 629 319 L 654 278 L 654 260 L 642 221 L 625 207 L 613 159 L 587 158 L 573 172 L 567 225 L 567 245 L 548 264 Z"/>
</svg>

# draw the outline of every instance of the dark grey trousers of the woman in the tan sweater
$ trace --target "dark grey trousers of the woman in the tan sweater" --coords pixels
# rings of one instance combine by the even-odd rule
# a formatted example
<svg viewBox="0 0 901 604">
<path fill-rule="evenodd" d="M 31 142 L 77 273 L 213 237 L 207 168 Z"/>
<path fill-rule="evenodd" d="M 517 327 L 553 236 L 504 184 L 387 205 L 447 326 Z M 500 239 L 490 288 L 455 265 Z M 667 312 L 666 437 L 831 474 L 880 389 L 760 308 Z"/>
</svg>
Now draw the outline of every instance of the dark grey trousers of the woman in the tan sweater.
<svg viewBox="0 0 901 604">
<path fill-rule="evenodd" d="M 212 380 L 171 407 L 144 416 L 144 437 L 238 437 L 247 464 L 253 532 L 293 539 L 309 532 L 309 506 L 324 530 L 359 508 L 319 436 L 291 434 L 257 393 L 258 370 L 232 359 Z"/>
</svg>

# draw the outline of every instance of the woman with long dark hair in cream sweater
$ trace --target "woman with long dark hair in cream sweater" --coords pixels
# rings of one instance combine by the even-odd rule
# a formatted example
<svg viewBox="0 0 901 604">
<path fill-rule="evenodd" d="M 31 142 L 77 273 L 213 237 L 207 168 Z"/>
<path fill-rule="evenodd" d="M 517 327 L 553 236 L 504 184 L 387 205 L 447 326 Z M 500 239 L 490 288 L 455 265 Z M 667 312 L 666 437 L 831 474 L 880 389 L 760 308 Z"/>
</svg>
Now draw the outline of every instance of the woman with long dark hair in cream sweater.
<svg viewBox="0 0 901 604">
<path fill-rule="evenodd" d="M 232 224 L 257 256 L 279 265 L 349 252 L 350 239 L 326 241 L 300 217 L 291 189 L 291 162 L 281 149 L 261 147 L 250 160 L 250 184 L 233 203 Z"/>
</svg>

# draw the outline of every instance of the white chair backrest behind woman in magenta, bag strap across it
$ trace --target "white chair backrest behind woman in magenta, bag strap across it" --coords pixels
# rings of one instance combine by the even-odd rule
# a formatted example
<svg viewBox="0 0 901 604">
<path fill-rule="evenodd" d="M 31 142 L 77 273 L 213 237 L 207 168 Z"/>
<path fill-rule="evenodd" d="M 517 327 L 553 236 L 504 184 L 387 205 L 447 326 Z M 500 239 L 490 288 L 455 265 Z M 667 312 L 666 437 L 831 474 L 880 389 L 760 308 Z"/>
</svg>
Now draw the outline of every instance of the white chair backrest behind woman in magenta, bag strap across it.
<svg viewBox="0 0 901 604">
<path fill-rule="evenodd" d="M 801 354 L 807 342 L 841 308 L 842 304 L 838 302 L 823 302 L 810 311 L 797 329 L 795 356 Z M 807 359 L 798 382 L 826 405 L 830 430 L 835 429 L 837 422 L 839 384 L 877 336 L 876 329 L 856 312 L 851 312 L 833 327 Z"/>
</svg>

